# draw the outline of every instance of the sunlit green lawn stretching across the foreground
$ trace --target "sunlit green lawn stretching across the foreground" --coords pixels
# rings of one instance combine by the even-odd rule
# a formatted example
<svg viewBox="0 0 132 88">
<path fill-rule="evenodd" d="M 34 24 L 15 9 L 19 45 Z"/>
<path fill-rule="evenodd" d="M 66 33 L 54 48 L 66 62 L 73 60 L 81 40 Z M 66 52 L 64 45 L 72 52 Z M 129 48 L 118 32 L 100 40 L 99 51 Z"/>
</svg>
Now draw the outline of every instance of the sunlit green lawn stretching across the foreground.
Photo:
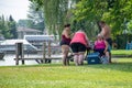
<svg viewBox="0 0 132 88">
<path fill-rule="evenodd" d="M 1 66 L 0 88 L 131 88 L 132 58 L 109 65 Z"/>
</svg>

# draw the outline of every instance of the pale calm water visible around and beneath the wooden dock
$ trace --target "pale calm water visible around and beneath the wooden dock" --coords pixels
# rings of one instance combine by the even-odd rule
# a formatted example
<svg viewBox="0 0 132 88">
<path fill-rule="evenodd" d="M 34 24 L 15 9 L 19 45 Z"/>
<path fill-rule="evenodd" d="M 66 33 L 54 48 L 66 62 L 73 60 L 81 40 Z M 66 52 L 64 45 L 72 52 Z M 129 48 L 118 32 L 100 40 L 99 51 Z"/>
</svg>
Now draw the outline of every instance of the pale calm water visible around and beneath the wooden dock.
<svg viewBox="0 0 132 88">
<path fill-rule="evenodd" d="M 56 56 L 56 55 L 55 55 Z M 41 55 L 24 55 L 24 57 L 42 57 Z M 0 66 L 15 66 L 15 55 L 7 54 L 3 57 L 3 61 L 0 61 Z M 52 63 L 61 63 L 62 59 L 52 61 Z M 36 65 L 37 63 L 35 61 L 25 61 L 25 65 Z M 21 61 L 19 62 L 19 65 L 21 64 Z"/>
</svg>

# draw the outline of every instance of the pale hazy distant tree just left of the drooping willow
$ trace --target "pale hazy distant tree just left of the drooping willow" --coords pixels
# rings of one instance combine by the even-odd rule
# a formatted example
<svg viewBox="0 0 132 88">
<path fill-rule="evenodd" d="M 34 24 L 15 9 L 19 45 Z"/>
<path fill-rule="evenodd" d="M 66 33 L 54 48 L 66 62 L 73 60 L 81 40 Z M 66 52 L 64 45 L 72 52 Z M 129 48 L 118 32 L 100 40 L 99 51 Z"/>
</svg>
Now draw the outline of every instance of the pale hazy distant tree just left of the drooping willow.
<svg viewBox="0 0 132 88">
<path fill-rule="evenodd" d="M 42 9 L 36 10 L 37 4 L 35 2 L 30 3 L 30 10 L 29 10 L 29 21 L 30 24 L 28 24 L 29 28 L 31 29 L 36 29 L 40 31 L 44 31 L 45 25 L 44 25 L 44 13 Z"/>
</svg>

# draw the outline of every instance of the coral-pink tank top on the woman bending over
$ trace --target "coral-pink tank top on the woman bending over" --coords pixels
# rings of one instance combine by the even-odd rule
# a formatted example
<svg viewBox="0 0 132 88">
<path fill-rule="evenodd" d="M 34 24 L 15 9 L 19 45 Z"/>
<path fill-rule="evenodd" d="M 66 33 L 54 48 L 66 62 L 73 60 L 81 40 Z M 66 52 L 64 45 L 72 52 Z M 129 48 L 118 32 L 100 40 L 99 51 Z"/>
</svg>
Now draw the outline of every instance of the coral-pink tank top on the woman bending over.
<svg viewBox="0 0 132 88">
<path fill-rule="evenodd" d="M 81 43 L 87 46 L 86 34 L 84 32 L 76 32 L 70 44 L 72 43 Z"/>
</svg>

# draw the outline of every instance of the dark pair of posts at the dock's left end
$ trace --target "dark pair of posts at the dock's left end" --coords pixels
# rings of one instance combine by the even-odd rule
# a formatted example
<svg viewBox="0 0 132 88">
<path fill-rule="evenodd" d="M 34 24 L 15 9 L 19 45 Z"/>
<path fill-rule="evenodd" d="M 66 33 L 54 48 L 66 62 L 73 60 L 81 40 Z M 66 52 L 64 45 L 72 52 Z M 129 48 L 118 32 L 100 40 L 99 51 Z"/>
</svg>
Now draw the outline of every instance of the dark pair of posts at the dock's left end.
<svg viewBox="0 0 132 88">
<path fill-rule="evenodd" d="M 22 65 L 24 65 L 23 43 L 15 43 L 15 65 L 19 65 L 19 57 L 22 59 Z"/>
</svg>

